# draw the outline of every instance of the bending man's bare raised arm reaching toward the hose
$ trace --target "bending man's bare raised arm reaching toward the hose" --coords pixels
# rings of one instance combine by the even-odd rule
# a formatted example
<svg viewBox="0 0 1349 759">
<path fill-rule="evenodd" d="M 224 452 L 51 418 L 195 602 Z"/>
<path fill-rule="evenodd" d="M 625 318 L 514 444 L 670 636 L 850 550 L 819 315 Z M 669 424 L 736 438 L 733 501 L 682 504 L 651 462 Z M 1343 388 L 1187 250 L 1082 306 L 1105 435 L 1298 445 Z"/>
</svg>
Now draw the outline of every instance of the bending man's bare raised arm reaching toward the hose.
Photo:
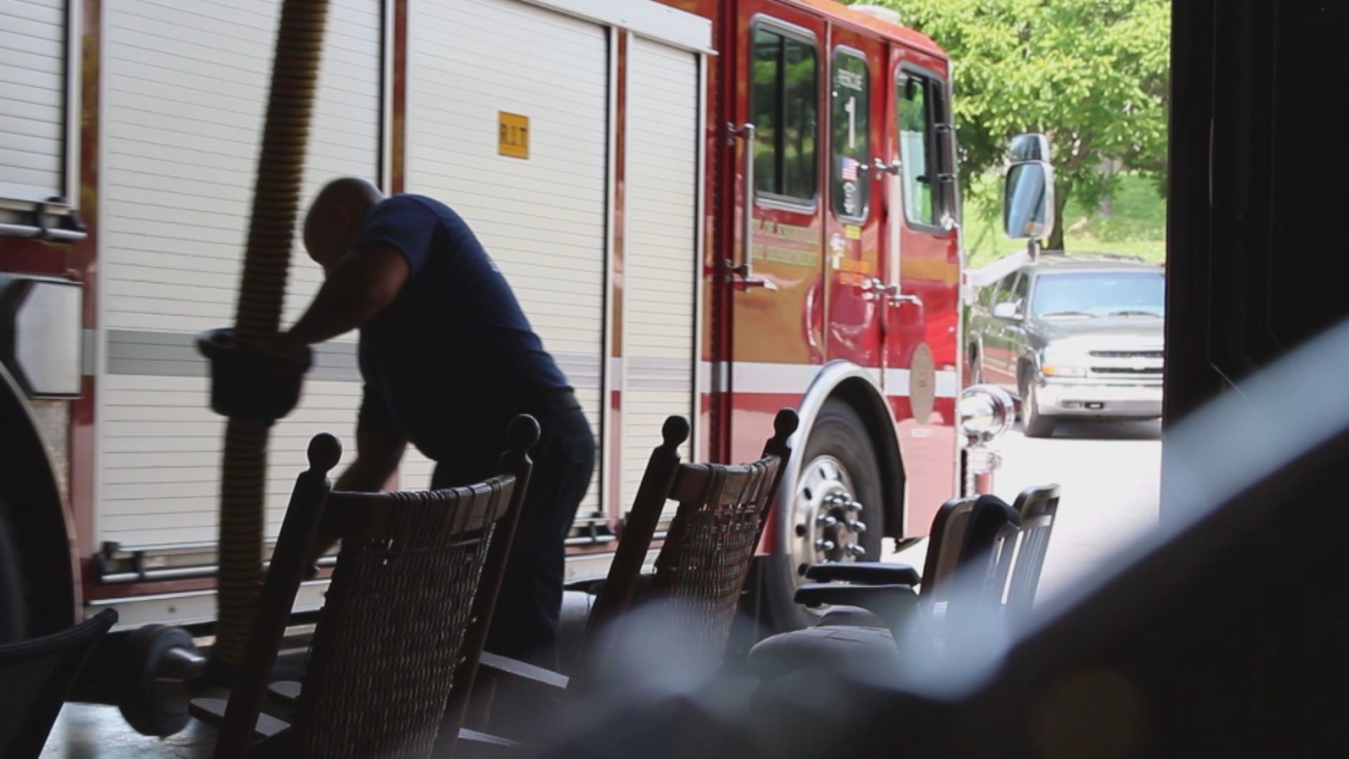
<svg viewBox="0 0 1349 759">
<path fill-rule="evenodd" d="M 328 271 L 309 311 L 278 339 L 308 346 L 356 330 L 398 298 L 410 274 L 407 258 L 397 247 L 362 246 Z"/>
</svg>

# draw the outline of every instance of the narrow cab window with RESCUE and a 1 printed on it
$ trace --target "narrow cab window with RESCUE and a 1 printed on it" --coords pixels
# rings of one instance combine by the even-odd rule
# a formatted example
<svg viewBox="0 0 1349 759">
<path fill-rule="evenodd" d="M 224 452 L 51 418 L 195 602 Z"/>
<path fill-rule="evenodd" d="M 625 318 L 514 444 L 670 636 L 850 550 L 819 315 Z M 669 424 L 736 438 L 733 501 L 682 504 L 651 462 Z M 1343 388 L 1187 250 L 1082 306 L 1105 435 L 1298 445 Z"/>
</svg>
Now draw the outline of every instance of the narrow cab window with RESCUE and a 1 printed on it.
<svg viewBox="0 0 1349 759">
<path fill-rule="evenodd" d="M 871 182 L 867 162 L 871 157 L 867 113 L 870 107 L 870 72 L 866 58 L 855 50 L 840 47 L 834 53 L 831 192 L 834 215 L 862 220 L 870 203 Z"/>
</svg>

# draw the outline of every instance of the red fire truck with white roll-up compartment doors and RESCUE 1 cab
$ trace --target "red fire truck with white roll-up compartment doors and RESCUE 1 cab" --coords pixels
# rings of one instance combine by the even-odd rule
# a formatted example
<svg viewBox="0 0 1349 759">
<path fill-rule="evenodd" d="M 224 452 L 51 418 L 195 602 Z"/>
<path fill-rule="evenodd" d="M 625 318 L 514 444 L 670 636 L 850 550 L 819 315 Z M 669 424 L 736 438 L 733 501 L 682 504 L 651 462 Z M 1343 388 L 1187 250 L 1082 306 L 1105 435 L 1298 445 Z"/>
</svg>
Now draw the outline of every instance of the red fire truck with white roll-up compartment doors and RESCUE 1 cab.
<svg viewBox="0 0 1349 759">
<path fill-rule="evenodd" d="M 278 7 L 0 7 L 16 629 L 112 606 L 162 654 L 177 628 L 143 625 L 213 619 L 224 421 L 193 340 L 233 315 Z M 960 489 L 950 70 L 830 0 L 332 0 L 305 192 L 367 177 L 484 240 L 600 440 L 572 581 L 603 574 L 666 415 L 689 456 L 742 461 L 796 408 L 758 586 L 800 625 L 799 569 L 880 558 Z M 320 277 L 295 257 L 287 319 Z M 353 336 L 318 348 L 271 438 L 272 535 L 309 438 L 352 439 L 359 380 Z M 402 485 L 429 470 L 409 451 Z"/>
</svg>

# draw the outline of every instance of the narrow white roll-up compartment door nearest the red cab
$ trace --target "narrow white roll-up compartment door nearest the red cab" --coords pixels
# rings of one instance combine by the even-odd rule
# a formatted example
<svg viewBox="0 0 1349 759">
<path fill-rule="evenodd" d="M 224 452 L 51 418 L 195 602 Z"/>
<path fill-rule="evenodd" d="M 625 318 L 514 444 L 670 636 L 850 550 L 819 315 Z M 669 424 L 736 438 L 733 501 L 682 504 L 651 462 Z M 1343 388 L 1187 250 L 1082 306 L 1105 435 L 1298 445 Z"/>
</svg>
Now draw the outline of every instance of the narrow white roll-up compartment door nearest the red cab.
<svg viewBox="0 0 1349 759">
<path fill-rule="evenodd" d="M 634 38 L 627 69 L 623 505 L 665 417 L 695 416 L 699 61 Z M 689 446 L 681 451 L 688 461 Z"/>
</svg>

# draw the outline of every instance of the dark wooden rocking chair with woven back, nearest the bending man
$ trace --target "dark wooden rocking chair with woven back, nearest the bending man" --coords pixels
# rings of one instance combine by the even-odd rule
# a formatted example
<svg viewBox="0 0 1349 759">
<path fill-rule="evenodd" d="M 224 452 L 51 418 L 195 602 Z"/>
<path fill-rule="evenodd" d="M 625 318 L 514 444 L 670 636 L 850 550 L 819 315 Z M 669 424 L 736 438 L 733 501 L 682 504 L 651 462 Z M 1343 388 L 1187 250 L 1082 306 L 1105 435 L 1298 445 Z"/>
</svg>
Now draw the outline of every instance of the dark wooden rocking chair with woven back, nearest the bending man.
<svg viewBox="0 0 1349 759">
<path fill-rule="evenodd" d="M 328 471 L 341 444 L 332 435 L 316 436 L 228 705 L 209 698 L 192 704 L 194 716 L 220 727 L 214 755 L 422 758 L 452 748 L 537 440 L 538 423 L 517 417 L 500 474 L 478 485 L 335 493 Z M 341 550 L 287 725 L 260 706 L 320 533 L 340 538 Z"/>
</svg>

